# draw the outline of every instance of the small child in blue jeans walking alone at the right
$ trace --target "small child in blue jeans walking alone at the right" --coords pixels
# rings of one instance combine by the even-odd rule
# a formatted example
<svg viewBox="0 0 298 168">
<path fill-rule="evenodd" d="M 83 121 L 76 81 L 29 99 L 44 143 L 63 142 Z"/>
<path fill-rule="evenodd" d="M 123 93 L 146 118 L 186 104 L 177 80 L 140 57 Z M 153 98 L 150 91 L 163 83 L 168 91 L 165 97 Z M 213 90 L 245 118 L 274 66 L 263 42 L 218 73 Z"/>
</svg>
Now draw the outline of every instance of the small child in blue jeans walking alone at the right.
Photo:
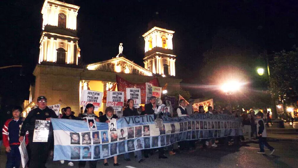
<svg viewBox="0 0 298 168">
<path fill-rule="evenodd" d="M 268 149 L 271 151 L 270 155 L 273 154 L 274 148 L 270 146 L 267 142 L 267 132 L 265 128 L 265 123 L 263 120 L 264 114 L 262 112 L 257 113 L 257 133 L 259 138 L 259 145 L 260 145 L 260 151 L 258 154 L 265 154 L 264 146 L 267 146 Z"/>
</svg>

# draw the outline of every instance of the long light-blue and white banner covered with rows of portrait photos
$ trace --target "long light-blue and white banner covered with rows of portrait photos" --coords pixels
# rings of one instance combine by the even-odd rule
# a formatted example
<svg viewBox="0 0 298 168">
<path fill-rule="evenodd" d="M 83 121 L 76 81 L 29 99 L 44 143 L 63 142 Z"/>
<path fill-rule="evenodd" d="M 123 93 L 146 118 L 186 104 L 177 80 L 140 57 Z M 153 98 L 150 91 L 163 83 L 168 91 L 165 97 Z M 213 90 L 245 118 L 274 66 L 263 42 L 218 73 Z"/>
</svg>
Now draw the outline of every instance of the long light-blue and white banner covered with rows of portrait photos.
<svg viewBox="0 0 298 168">
<path fill-rule="evenodd" d="M 108 130 L 105 122 L 96 122 L 97 130 L 90 131 L 85 121 L 52 118 L 53 160 L 98 160 L 179 141 L 237 136 L 242 132 L 241 120 L 233 115 L 162 116 L 162 120 L 162 126 L 156 127 L 153 115 L 124 117 L 117 120 L 116 131 Z"/>
</svg>

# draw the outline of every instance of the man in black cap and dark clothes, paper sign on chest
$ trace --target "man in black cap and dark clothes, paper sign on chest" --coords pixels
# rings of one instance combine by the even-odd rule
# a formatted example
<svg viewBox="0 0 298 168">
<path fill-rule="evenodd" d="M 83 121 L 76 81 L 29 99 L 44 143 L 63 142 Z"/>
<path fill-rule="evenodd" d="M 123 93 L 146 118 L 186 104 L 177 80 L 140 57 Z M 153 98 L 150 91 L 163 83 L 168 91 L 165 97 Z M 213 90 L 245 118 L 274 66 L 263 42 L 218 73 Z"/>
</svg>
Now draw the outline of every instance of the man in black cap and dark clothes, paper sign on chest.
<svg viewBox="0 0 298 168">
<path fill-rule="evenodd" d="M 45 163 L 48 159 L 49 148 L 53 135 L 53 127 L 50 125 L 48 142 L 33 142 L 33 132 L 35 128 L 35 120 L 47 120 L 50 118 L 58 118 L 52 109 L 47 107 L 47 98 L 39 96 L 37 98 L 37 108 L 31 110 L 25 118 L 21 130 L 19 141 L 22 142 L 24 135 L 29 131 L 29 147 L 31 150 L 31 157 L 29 162 L 30 168 L 45 168 Z"/>
</svg>

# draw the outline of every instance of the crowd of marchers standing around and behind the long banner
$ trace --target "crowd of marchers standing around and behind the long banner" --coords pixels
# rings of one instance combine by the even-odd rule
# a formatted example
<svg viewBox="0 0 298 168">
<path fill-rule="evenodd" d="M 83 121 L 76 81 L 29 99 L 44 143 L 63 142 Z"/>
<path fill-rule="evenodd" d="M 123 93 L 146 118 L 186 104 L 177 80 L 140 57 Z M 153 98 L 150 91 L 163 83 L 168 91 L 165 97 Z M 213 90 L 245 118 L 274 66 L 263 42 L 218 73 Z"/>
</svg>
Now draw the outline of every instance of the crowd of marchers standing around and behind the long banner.
<svg viewBox="0 0 298 168">
<path fill-rule="evenodd" d="M 128 99 L 127 106 L 123 110 L 123 117 L 137 116 L 137 115 L 154 115 L 155 118 L 161 118 L 162 115 L 168 117 L 181 117 L 191 114 L 228 114 L 234 115 L 236 118 L 242 120 L 241 131 L 237 136 L 228 136 L 223 138 L 210 138 L 201 140 L 190 140 L 190 141 L 180 141 L 176 142 L 167 147 L 160 147 L 157 149 L 145 149 L 134 151 L 134 156 L 137 162 L 141 163 L 144 158 L 148 158 L 149 155 L 153 155 L 155 151 L 158 151 L 158 158 L 167 159 L 165 152 L 168 152 L 169 156 L 173 156 L 176 153 L 186 150 L 188 152 L 194 152 L 197 148 L 213 148 L 217 147 L 217 144 L 228 145 L 229 142 L 233 140 L 233 146 L 240 145 L 240 141 L 245 141 L 244 135 L 247 134 L 248 139 L 256 137 L 259 139 L 260 151 L 258 153 L 263 154 L 264 146 L 267 146 L 271 151 L 270 154 L 274 152 L 274 148 L 270 146 L 266 141 L 266 122 L 263 119 L 263 113 L 259 111 L 255 114 L 254 111 L 243 112 L 242 110 L 230 111 L 229 104 L 225 105 L 223 109 L 221 106 L 217 106 L 212 109 L 211 106 L 208 107 L 208 111 L 204 111 L 203 106 L 199 106 L 199 111 L 194 111 L 192 106 L 192 101 L 186 106 L 185 100 L 179 101 L 179 106 L 177 110 L 171 114 L 168 109 L 162 109 L 158 111 L 158 106 L 156 104 L 156 97 L 152 96 L 150 98 L 150 103 L 145 105 L 143 110 L 142 106 L 139 109 L 134 108 L 134 100 Z M 118 119 L 118 116 L 113 114 L 114 109 L 112 107 L 107 107 L 105 109 L 105 114 L 99 112 L 99 116 L 94 114 L 94 106 L 92 104 L 87 104 L 84 112 L 82 112 L 76 117 L 74 112 L 70 107 L 65 107 L 61 109 L 61 116 L 59 118 L 71 119 L 71 120 L 83 120 L 86 121 L 87 117 L 95 118 L 96 122 L 106 122 L 109 123 L 111 119 Z M 53 155 L 53 127 L 50 125 L 48 142 L 33 142 L 33 131 L 35 128 L 36 120 L 50 120 L 51 118 L 58 118 L 55 112 L 47 106 L 47 98 L 44 96 L 39 96 L 37 98 L 37 108 L 31 110 L 26 118 L 22 118 L 20 115 L 22 113 L 22 108 L 20 106 L 15 106 L 12 109 L 12 118 L 8 119 L 2 129 L 3 145 L 6 149 L 7 162 L 6 168 L 20 167 L 21 155 L 19 152 L 20 142 L 24 141 L 27 145 L 29 161 L 27 167 L 29 168 L 45 168 L 45 163 L 48 160 L 49 154 Z M 270 120 L 267 121 L 267 124 Z M 88 138 L 88 137 L 87 137 Z M 88 139 L 84 139 L 88 141 Z M 1 144 L 0 144 L 1 145 Z M 119 166 L 117 156 L 113 158 L 113 165 Z M 124 154 L 124 161 L 130 162 L 130 154 Z M 67 161 L 68 166 L 74 166 L 74 163 Z M 77 161 L 80 168 L 85 167 L 86 162 L 89 162 L 90 168 L 95 168 L 98 160 L 93 161 Z M 61 164 L 65 161 L 61 160 Z M 108 159 L 104 159 L 104 166 L 108 166 Z"/>
</svg>

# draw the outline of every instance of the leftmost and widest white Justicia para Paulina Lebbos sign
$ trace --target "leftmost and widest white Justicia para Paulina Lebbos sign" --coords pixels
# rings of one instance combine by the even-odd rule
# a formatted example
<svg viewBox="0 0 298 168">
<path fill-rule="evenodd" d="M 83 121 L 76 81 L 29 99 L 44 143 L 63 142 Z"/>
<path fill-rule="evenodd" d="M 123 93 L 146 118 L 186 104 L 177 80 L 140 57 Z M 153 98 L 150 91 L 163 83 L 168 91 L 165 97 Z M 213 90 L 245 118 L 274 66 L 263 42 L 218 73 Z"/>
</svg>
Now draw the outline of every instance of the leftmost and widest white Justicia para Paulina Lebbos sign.
<svg viewBox="0 0 298 168">
<path fill-rule="evenodd" d="M 97 92 L 94 90 L 82 90 L 80 105 L 86 106 L 91 103 L 94 106 L 101 107 L 103 92 Z"/>
</svg>

